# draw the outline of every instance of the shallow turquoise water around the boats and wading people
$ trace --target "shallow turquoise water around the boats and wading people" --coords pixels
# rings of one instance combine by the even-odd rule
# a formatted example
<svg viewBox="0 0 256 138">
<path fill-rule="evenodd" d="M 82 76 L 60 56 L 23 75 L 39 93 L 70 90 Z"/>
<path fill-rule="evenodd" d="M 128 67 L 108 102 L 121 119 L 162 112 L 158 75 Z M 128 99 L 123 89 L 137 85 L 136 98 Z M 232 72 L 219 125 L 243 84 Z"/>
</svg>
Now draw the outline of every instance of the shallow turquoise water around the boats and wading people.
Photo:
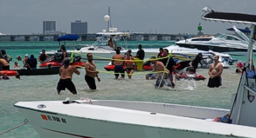
<svg viewBox="0 0 256 138">
<path fill-rule="evenodd" d="M 93 42 L 80 42 L 90 44 Z M 159 48 L 169 46 L 170 42 L 128 42 L 131 48 L 135 49 L 139 43 L 144 48 Z M 6 49 L 12 56 L 24 56 L 24 54 L 34 54 L 38 56 L 41 49 L 59 49 L 58 43 L 0 43 L 0 49 Z M 233 56 L 241 61 L 245 61 L 245 56 Z M 16 61 L 13 58 L 13 62 Z M 12 63 L 10 65 L 12 66 Z M 21 64 L 21 62 L 20 62 Z M 102 64 L 97 62 L 98 69 L 103 70 Z M 66 97 L 79 99 L 89 97 L 92 99 L 117 99 L 128 101 L 149 101 L 149 102 L 169 102 L 176 104 L 186 104 L 195 106 L 205 106 L 213 108 L 230 108 L 231 95 L 237 90 L 239 75 L 234 73 L 235 66 L 225 69 L 223 73 L 223 86 L 218 89 L 206 87 L 205 81 L 176 82 L 176 89 L 154 89 L 153 80 L 145 80 L 144 74 L 134 75 L 131 80 L 127 78 L 123 81 L 115 80 L 114 75 L 100 72 L 101 82 L 97 82 L 98 90 L 92 92 L 84 81 L 85 70 L 80 69 L 80 76 L 73 76 L 78 95 L 72 95 L 68 91 L 62 91 L 61 95 L 56 95 L 56 85 L 59 81 L 58 75 L 53 76 L 21 76 L 21 80 L 10 77 L 10 81 L 0 81 L 0 133 L 23 123 L 24 116 L 21 115 L 13 104 L 19 101 L 41 101 L 41 100 L 65 100 Z M 197 74 L 204 75 L 207 79 L 207 69 L 198 69 Z M 38 133 L 27 124 L 17 128 L 2 138 L 38 138 Z"/>
</svg>

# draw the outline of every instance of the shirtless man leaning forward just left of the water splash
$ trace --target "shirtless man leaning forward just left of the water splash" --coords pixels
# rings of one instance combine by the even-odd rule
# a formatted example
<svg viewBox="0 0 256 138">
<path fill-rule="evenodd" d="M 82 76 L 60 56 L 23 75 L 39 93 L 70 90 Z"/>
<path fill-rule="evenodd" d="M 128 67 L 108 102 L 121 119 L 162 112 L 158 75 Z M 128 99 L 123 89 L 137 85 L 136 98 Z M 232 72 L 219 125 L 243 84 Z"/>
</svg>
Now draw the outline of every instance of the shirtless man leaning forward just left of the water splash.
<svg viewBox="0 0 256 138">
<path fill-rule="evenodd" d="M 165 77 L 169 77 L 168 74 L 169 74 L 169 70 L 168 69 L 165 69 L 165 66 L 163 64 L 163 62 L 159 62 L 159 61 L 156 61 L 156 56 L 151 56 L 152 59 L 152 63 L 153 63 L 153 71 L 154 72 L 159 72 L 159 73 L 155 73 L 156 74 L 156 84 L 155 84 L 155 88 L 157 89 L 159 86 L 160 87 L 163 87 L 163 82 L 161 82 L 160 84 L 160 81 L 162 79 L 162 75 L 163 75 L 163 72 L 164 71 L 167 71 L 167 73 L 165 73 Z"/>
</svg>

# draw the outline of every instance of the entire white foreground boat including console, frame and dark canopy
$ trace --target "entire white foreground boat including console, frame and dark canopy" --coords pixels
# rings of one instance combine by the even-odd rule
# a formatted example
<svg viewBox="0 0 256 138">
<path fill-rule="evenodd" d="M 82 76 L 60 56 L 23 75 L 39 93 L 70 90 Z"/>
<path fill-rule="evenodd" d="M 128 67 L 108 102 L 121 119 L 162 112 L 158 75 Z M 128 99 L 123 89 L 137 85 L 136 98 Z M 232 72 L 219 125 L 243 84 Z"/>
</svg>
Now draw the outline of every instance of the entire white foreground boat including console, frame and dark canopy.
<svg viewBox="0 0 256 138">
<path fill-rule="evenodd" d="M 204 20 L 246 23 L 255 29 L 256 16 L 204 10 Z M 251 62 L 252 39 L 253 35 L 246 55 Z M 230 109 L 90 99 L 17 102 L 14 106 L 43 138 L 255 137 L 255 80 L 244 73 L 238 87 Z"/>
</svg>

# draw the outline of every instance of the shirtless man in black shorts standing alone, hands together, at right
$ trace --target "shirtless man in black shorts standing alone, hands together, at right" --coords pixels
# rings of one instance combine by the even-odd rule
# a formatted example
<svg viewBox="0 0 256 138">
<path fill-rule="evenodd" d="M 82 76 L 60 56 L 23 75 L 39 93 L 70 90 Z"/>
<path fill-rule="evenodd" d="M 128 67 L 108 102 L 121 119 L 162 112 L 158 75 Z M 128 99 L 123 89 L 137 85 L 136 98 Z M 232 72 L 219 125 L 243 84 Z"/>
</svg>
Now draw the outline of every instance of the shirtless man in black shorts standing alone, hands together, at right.
<svg viewBox="0 0 256 138">
<path fill-rule="evenodd" d="M 223 65 L 218 62 L 219 56 L 214 56 L 213 57 L 213 63 L 211 63 L 211 66 L 208 70 L 208 74 L 210 76 L 209 82 L 207 87 L 209 88 L 214 88 L 214 87 L 219 87 L 221 84 L 221 74 L 223 71 Z"/>
</svg>

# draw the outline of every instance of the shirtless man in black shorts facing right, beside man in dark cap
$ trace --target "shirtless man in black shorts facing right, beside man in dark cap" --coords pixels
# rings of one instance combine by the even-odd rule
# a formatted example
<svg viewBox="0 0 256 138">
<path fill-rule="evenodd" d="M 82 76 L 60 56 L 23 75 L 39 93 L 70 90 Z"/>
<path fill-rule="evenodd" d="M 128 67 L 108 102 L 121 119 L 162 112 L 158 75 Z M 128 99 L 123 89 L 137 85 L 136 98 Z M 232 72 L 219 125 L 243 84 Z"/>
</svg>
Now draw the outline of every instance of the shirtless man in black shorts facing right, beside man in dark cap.
<svg viewBox="0 0 256 138">
<path fill-rule="evenodd" d="M 88 59 L 88 61 L 85 63 L 85 66 L 86 66 L 85 80 L 90 89 L 96 89 L 96 83 L 95 83 L 94 78 L 96 76 L 98 79 L 98 82 L 100 82 L 100 77 L 98 76 L 99 71 L 96 71 L 96 65 L 93 62 L 93 54 L 92 53 L 87 54 L 87 59 Z"/>
</svg>

